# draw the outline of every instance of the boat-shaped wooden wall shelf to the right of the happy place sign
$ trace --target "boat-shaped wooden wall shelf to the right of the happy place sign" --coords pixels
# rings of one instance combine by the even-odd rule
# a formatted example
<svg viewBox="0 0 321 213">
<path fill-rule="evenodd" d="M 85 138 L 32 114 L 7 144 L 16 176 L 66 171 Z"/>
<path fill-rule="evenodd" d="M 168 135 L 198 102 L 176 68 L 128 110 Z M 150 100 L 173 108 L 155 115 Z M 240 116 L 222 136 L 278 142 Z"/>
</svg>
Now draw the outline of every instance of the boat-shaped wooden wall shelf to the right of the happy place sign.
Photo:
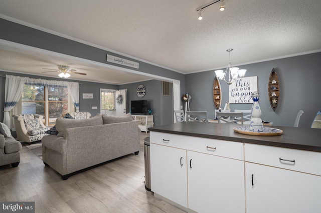
<svg viewBox="0 0 321 213">
<path fill-rule="evenodd" d="M 270 104 L 273 110 L 275 110 L 280 100 L 280 82 L 274 68 L 272 68 L 269 82 L 268 82 L 268 94 L 269 94 Z"/>
</svg>

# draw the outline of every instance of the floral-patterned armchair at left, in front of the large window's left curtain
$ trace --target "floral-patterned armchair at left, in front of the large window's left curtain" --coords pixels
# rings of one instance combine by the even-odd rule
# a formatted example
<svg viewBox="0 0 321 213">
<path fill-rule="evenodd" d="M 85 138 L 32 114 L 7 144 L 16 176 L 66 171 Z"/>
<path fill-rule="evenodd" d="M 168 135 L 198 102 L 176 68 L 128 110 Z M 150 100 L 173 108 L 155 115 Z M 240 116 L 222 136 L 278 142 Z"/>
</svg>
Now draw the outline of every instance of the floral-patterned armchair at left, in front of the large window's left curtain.
<svg viewBox="0 0 321 213">
<path fill-rule="evenodd" d="M 49 128 L 42 122 L 43 116 L 39 114 L 17 114 L 13 115 L 17 131 L 17 139 L 21 142 L 41 140 Z"/>
</svg>

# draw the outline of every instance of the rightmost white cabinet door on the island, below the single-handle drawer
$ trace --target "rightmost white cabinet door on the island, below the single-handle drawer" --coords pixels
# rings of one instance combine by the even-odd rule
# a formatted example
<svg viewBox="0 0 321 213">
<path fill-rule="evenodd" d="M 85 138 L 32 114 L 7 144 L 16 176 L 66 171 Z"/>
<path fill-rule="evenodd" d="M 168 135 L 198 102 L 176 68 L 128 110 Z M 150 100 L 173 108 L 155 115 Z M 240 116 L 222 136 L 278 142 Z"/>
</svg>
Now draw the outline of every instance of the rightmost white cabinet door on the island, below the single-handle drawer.
<svg viewBox="0 0 321 213">
<path fill-rule="evenodd" d="M 245 179 L 247 213 L 321 210 L 318 175 L 246 162 Z"/>
</svg>

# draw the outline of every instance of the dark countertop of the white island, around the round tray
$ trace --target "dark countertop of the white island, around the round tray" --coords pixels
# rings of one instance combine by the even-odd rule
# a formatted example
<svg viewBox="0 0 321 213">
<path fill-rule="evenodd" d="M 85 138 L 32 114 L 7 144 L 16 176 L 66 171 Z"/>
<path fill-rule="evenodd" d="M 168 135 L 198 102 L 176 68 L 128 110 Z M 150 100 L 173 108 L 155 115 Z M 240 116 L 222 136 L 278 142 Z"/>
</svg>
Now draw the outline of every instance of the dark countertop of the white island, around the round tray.
<svg viewBox="0 0 321 213">
<path fill-rule="evenodd" d="M 150 127 L 148 130 L 321 152 L 321 129 L 319 128 L 268 126 L 283 130 L 283 134 L 278 136 L 256 136 L 234 132 L 233 127 L 235 126 L 241 126 L 241 124 L 177 122 Z"/>
</svg>

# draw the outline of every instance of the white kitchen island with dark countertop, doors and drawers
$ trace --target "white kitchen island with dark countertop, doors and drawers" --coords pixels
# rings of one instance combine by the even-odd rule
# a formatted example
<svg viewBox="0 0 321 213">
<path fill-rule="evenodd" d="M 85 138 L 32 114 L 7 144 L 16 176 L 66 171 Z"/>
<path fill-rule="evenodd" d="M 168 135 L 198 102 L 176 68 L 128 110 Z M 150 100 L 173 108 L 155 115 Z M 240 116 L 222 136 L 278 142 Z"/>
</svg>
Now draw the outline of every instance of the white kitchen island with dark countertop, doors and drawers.
<svg viewBox="0 0 321 213">
<path fill-rule="evenodd" d="M 188 212 L 320 212 L 321 129 L 178 122 L 149 128 L 151 190 Z"/>
</svg>

